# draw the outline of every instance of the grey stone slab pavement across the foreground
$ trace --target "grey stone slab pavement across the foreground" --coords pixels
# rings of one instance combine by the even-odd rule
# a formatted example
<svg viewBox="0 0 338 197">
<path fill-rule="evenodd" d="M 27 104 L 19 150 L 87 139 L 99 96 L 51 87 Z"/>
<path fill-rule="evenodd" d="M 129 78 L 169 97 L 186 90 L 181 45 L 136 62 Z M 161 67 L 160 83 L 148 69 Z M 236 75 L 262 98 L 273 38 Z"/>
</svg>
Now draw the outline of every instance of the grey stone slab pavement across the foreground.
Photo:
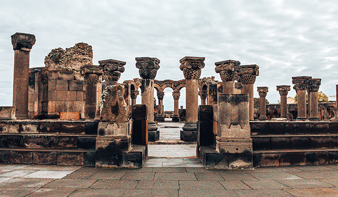
<svg viewBox="0 0 338 197">
<path fill-rule="evenodd" d="M 338 165 L 206 170 L 0 165 L 1 197 L 338 197 Z"/>
</svg>

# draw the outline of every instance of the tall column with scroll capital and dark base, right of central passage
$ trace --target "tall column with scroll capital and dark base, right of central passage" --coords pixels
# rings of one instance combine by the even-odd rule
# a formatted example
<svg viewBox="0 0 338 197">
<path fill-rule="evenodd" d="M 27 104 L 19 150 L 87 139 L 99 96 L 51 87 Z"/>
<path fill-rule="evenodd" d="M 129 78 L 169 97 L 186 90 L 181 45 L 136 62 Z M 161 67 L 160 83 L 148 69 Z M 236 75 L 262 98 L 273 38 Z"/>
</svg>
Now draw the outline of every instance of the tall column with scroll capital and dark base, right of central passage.
<svg viewBox="0 0 338 197">
<path fill-rule="evenodd" d="M 197 113 L 198 113 L 198 79 L 204 68 L 205 57 L 183 57 L 180 59 L 180 69 L 185 78 L 186 122 L 181 131 L 180 139 L 185 142 L 197 141 Z"/>
</svg>

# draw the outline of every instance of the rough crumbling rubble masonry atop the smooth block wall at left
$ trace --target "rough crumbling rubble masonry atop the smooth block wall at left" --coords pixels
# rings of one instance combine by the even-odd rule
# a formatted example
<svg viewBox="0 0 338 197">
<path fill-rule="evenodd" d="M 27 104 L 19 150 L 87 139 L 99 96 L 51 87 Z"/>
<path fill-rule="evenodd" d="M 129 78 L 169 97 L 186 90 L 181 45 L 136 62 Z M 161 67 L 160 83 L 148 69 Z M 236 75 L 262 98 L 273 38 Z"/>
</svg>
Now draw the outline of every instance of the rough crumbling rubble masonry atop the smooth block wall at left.
<svg viewBox="0 0 338 197">
<path fill-rule="evenodd" d="M 53 49 L 45 58 L 46 71 L 70 70 L 74 71 L 76 80 L 83 80 L 80 74 L 80 66 L 93 64 L 92 46 L 80 42 L 74 47 Z"/>
</svg>

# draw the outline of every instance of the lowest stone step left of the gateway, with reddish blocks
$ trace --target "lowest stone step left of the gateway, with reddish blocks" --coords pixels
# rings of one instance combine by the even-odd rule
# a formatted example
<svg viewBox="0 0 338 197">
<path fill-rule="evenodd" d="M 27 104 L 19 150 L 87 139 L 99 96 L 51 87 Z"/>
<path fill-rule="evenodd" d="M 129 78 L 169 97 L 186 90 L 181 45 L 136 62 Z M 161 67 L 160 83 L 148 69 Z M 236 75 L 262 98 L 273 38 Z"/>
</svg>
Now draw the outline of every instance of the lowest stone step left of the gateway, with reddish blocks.
<svg viewBox="0 0 338 197">
<path fill-rule="evenodd" d="M 11 164 L 95 166 L 95 150 L 0 148 L 0 162 Z"/>
</svg>

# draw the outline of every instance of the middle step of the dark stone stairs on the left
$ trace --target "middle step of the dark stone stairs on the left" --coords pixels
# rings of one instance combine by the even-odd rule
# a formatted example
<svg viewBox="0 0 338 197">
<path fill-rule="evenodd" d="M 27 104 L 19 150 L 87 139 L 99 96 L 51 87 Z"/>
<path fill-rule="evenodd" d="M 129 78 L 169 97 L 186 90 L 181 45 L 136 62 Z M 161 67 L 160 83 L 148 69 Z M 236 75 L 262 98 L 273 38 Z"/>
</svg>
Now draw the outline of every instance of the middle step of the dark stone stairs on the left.
<svg viewBox="0 0 338 197">
<path fill-rule="evenodd" d="M 0 148 L 95 150 L 95 135 L 0 134 Z"/>
</svg>

